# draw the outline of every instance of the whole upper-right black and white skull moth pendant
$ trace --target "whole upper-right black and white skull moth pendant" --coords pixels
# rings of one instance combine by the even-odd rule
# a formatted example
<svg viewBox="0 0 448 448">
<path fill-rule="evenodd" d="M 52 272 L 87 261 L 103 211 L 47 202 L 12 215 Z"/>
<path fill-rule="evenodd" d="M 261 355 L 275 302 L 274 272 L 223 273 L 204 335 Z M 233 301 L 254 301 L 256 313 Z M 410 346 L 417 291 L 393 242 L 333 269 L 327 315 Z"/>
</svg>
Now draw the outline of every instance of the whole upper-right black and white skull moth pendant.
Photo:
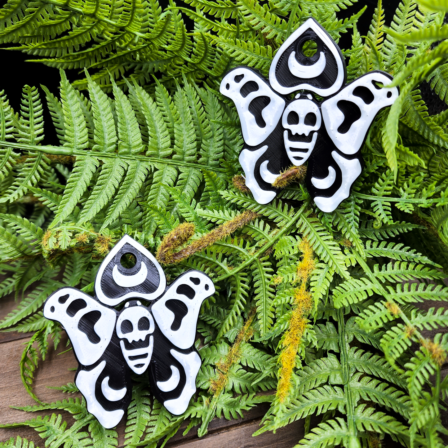
<svg viewBox="0 0 448 448">
<path fill-rule="evenodd" d="M 317 46 L 310 57 L 303 50 L 307 41 Z M 333 211 L 349 197 L 362 171 L 360 149 L 369 127 L 399 92 L 382 87 L 392 77 L 381 71 L 347 85 L 346 78 L 339 47 L 313 18 L 278 49 L 269 81 L 248 67 L 225 74 L 220 92 L 237 108 L 245 143 L 239 161 L 258 203 L 276 197 L 271 184 L 280 171 L 306 161 L 306 186 L 320 210 Z"/>
</svg>

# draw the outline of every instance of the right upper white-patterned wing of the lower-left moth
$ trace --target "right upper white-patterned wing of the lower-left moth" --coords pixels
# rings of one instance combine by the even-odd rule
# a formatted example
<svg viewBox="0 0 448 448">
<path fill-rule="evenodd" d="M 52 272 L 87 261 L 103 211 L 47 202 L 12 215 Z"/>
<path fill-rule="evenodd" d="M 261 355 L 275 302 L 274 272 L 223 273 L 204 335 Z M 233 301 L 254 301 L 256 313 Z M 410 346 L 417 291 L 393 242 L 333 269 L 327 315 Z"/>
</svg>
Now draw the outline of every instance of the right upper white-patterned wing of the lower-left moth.
<svg viewBox="0 0 448 448">
<path fill-rule="evenodd" d="M 152 304 L 151 313 L 172 344 L 188 349 L 194 344 L 202 302 L 214 293 L 215 286 L 209 276 L 201 271 L 187 271 Z"/>
</svg>

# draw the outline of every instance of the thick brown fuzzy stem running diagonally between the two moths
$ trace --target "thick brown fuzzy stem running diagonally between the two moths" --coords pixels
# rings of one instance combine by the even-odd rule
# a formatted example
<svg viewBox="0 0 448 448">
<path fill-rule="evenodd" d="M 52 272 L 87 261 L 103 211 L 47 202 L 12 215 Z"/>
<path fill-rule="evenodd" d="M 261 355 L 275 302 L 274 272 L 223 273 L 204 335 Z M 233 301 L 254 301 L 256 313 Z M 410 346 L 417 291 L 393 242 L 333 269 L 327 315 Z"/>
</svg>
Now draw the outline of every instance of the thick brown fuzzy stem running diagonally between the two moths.
<svg viewBox="0 0 448 448">
<path fill-rule="evenodd" d="M 195 254 L 196 252 L 200 252 L 202 249 L 211 246 L 216 241 L 224 239 L 225 237 L 235 232 L 239 228 L 244 227 L 246 224 L 249 224 L 250 221 L 254 220 L 257 217 L 258 213 L 255 213 L 254 211 L 251 210 L 246 210 L 245 212 L 241 213 L 241 215 L 235 216 L 233 220 L 221 224 L 220 226 L 216 227 L 203 237 L 194 240 L 190 245 L 188 245 L 182 250 L 179 250 L 179 252 L 174 253 L 173 250 L 164 250 L 163 247 L 169 244 L 165 243 L 165 239 L 170 237 L 170 235 L 173 232 L 175 232 L 177 228 L 180 227 L 178 226 L 176 229 L 174 229 L 172 232 L 168 233 L 168 235 L 164 237 L 164 240 L 162 241 L 162 243 L 159 246 L 159 249 L 157 250 L 155 258 L 157 258 L 157 260 L 160 263 L 164 264 L 179 263 L 182 260 L 185 260 L 185 258 L 191 257 L 191 255 Z M 180 245 L 177 245 L 177 247 L 179 246 Z"/>
</svg>

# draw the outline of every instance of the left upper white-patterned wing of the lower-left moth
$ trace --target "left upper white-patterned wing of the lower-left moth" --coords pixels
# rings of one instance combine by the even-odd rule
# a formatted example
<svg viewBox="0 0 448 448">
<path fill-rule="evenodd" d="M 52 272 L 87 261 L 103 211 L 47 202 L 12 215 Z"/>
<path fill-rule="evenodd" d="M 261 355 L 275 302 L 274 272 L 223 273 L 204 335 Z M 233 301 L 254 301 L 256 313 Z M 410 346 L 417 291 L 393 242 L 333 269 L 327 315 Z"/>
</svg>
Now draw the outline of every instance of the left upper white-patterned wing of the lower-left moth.
<svg viewBox="0 0 448 448">
<path fill-rule="evenodd" d="M 80 364 L 97 362 L 108 347 L 115 328 L 116 312 L 74 288 L 61 288 L 47 298 L 47 319 L 60 322 L 69 335 Z"/>
</svg>

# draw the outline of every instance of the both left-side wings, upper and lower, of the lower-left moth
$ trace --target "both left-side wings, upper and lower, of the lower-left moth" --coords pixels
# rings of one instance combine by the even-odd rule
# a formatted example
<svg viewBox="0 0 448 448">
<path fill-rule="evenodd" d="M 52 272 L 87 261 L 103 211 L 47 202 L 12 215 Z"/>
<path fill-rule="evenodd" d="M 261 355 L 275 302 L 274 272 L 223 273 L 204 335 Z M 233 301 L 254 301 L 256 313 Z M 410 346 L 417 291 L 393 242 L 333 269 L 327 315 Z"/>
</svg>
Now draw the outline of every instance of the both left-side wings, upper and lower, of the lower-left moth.
<svg viewBox="0 0 448 448">
<path fill-rule="evenodd" d="M 115 333 L 116 311 L 74 288 L 61 288 L 43 307 L 47 319 L 60 322 L 69 335 L 79 367 L 75 383 L 88 411 L 105 428 L 120 422 L 129 405 L 129 368 Z"/>
</svg>

